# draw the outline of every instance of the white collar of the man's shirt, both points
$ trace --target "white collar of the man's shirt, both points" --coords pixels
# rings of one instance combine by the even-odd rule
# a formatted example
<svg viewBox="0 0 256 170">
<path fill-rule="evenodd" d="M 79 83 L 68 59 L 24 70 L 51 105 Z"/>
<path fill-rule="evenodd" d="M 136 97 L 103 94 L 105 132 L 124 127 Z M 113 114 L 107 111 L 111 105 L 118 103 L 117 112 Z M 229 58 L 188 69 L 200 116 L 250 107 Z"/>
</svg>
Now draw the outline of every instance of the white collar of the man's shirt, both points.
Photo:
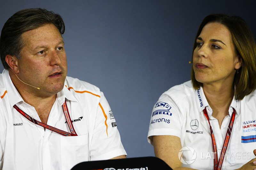
<svg viewBox="0 0 256 170">
<path fill-rule="evenodd" d="M 17 91 L 17 89 L 15 88 L 15 86 L 12 83 L 12 80 L 9 75 L 9 71 L 4 70 L 3 74 L 4 74 L 5 84 L 6 84 L 6 90 L 8 92 L 10 106 L 13 107 L 15 104 L 17 104 L 21 101 L 24 102 L 24 100 L 20 96 L 20 93 Z M 60 92 L 57 93 L 56 100 L 58 102 L 60 102 L 60 104 L 62 105 L 65 101 L 65 98 L 68 100 L 71 100 L 71 101 L 78 101 L 76 99 L 76 97 L 68 90 L 68 88 L 66 86 L 64 86 L 64 88 Z"/>
</svg>

